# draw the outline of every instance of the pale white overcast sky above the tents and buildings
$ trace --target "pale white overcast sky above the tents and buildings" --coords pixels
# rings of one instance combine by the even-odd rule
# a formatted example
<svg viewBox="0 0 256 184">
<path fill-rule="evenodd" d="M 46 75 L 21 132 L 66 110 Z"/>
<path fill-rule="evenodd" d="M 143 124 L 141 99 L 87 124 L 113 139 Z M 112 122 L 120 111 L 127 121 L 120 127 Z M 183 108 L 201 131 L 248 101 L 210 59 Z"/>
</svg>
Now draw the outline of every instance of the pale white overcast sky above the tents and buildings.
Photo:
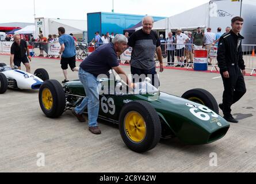
<svg viewBox="0 0 256 184">
<path fill-rule="evenodd" d="M 114 0 L 115 13 L 170 17 L 209 0 Z M 86 20 L 91 12 L 111 12 L 112 0 L 35 0 L 36 17 Z M 1 1 L 0 23 L 34 22 L 33 0 Z"/>
</svg>

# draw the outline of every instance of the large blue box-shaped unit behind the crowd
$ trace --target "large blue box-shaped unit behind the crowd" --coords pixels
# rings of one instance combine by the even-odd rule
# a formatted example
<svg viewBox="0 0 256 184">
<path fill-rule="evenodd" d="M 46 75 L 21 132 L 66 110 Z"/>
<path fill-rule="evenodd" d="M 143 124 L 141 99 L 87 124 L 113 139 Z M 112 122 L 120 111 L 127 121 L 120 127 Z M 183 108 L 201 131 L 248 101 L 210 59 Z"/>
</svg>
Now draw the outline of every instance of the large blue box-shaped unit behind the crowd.
<svg viewBox="0 0 256 184">
<path fill-rule="evenodd" d="M 100 32 L 100 34 L 119 33 L 123 34 L 124 29 L 131 28 L 140 21 L 142 21 L 142 15 L 132 14 L 120 14 L 120 13 L 104 13 L 95 12 L 87 13 L 87 29 L 88 29 L 88 41 L 93 40 L 94 33 Z M 152 16 L 154 21 L 162 20 L 166 17 Z"/>
</svg>

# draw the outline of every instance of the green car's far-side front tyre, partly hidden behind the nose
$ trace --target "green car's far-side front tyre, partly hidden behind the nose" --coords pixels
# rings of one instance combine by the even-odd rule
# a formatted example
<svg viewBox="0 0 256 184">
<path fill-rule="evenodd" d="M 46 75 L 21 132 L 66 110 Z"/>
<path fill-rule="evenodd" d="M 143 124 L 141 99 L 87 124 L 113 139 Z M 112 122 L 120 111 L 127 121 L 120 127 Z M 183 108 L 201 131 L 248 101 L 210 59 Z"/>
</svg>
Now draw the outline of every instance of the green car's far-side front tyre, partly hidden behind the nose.
<svg viewBox="0 0 256 184">
<path fill-rule="evenodd" d="M 219 114 L 219 106 L 216 102 L 216 99 L 213 97 L 209 91 L 204 89 L 192 89 L 186 91 L 182 98 L 189 99 L 190 101 L 202 104 L 212 109 L 215 113 Z"/>
</svg>

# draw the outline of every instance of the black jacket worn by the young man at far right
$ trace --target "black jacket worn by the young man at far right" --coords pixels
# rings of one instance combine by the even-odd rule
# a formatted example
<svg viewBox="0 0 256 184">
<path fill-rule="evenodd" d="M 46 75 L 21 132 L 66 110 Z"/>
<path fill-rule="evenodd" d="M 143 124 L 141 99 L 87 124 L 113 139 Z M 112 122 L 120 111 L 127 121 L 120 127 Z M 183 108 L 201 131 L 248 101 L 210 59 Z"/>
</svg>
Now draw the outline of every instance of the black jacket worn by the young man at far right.
<svg viewBox="0 0 256 184">
<path fill-rule="evenodd" d="M 239 66 L 241 70 L 245 69 L 242 51 L 243 39 L 243 36 L 236 35 L 232 30 L 220 37 L 217 61 L 221 73 L 228 71 L 231 66 Z"/>
</svg>

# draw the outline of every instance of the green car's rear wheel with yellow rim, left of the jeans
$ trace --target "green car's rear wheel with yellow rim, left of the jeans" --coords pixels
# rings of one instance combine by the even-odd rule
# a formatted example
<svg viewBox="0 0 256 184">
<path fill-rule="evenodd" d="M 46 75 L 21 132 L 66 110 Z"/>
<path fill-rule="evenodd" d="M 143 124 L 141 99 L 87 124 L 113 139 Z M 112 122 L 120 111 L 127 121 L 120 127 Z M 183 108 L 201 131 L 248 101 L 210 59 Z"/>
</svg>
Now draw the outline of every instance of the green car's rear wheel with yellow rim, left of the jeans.
<svg viewBox="0 0 256 184">
<path fill-rule="evenodd" d="M 39 103 L 47 117 L 61 116 L 66 108 L 66 95 L 62 85 L 56 80 L 45 81 L 39 90 Z"/>
</svg>

